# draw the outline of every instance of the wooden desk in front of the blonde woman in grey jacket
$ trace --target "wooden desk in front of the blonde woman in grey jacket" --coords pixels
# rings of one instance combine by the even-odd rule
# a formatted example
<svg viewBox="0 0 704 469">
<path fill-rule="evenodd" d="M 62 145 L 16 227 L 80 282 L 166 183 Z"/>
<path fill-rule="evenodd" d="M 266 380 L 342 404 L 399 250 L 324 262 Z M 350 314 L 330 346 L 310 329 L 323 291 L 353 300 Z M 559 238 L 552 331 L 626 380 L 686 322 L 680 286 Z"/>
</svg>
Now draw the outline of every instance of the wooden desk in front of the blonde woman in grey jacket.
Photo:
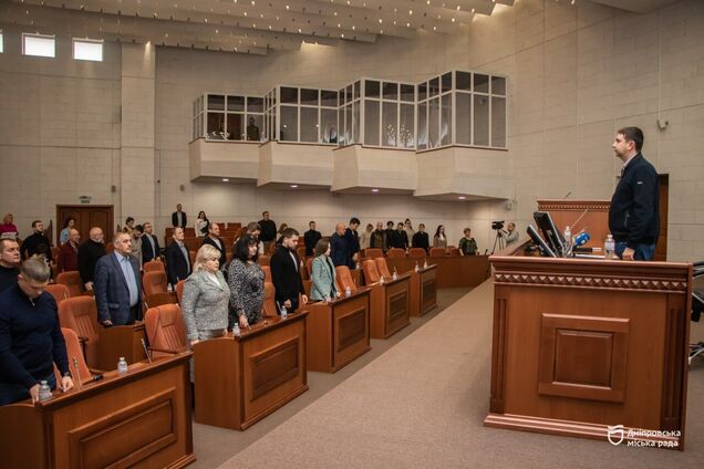
<svg viewBox="0 0 704 469">
<path fill-rule="evenodd" d="M 195 420 L 245 430 L 308 390 L 307 315 L 265 317 L 239 336 L 194 345 Z"/>
</svg>

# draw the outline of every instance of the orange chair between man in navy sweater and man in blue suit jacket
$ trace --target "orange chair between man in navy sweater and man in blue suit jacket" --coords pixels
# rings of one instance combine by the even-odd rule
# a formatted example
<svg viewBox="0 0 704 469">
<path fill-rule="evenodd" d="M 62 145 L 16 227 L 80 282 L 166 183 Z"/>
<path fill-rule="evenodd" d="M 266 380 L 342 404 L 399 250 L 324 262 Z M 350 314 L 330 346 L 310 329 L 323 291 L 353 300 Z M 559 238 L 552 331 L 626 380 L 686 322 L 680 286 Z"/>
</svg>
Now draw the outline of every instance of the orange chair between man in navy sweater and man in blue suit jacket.
<svg viewBox="0 0 704 469">
<path fill-rule="evenodd" d="M 97 308 L 92 296 L 74 296 L 59 304 L 59 323 L 76 333 L 84 341 L 85 361 L 91 368 L 97 367 L 97 340 L 100 325 Z"/>
</svg>

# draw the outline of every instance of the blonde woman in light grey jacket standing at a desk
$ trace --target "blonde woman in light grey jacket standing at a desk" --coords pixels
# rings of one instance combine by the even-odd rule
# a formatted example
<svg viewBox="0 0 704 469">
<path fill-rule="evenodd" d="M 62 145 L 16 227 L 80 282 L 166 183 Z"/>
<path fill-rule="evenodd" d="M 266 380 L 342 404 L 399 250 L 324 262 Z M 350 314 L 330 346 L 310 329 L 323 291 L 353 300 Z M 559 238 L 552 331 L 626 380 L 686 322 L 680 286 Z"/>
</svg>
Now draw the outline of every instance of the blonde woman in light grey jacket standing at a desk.
<svg viewBox="0 0 704 469">
<path fill-rule="evenodd" d="M 190 345 L 227 333 L 230 289 L 219 270 L 220 251 L 204 244 L 184 285 L 182 311 Z"/>
</svg>

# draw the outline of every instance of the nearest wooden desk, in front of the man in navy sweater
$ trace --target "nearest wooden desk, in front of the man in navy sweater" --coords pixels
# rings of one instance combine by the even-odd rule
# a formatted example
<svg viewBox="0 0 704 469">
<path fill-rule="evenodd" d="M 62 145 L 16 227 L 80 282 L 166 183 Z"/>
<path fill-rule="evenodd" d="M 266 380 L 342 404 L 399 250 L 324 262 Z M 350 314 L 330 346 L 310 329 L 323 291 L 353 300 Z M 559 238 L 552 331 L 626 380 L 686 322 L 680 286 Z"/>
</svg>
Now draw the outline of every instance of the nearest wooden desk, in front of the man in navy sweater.
<svg viewBox="0 0 704 469">
<path fill-rule="evenodd" d="M 0 407 L 3 467 L 169 467 L 195 461 L 190 353 L 137 363 L 50 400 Z M 20 423 L 18 425 L 18 423 Z"/>
</svg>

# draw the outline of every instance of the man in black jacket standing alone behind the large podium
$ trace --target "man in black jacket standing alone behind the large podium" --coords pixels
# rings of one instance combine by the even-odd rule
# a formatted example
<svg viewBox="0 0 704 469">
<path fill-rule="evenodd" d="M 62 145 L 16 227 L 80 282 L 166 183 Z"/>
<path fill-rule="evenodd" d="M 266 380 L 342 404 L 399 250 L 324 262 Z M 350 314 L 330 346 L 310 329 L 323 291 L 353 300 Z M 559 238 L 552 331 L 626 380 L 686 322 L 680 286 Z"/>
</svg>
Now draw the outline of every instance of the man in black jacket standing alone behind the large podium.
<svg viewBox="0 0 704 469">
<path fill-rule="evenodd" d="M 658 173 L 641 155 L 643 139 L 640 128 L 624 127 L 613 140 L 613 150 L 623 166 L 611 198 L 609 229 L 615 253 L 627 261 L 652 260 L 660 231 Z"/>
</svg>

